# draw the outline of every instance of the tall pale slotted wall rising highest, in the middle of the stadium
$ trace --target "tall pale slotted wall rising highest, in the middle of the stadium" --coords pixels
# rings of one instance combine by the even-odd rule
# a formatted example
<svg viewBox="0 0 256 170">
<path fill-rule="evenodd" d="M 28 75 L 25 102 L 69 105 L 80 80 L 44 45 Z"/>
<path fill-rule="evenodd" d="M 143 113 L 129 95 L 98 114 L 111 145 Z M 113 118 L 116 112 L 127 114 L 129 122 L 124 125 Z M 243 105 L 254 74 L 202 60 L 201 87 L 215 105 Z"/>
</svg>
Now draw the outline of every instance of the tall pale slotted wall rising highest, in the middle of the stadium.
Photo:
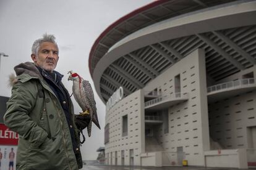
<svg viewBox="0 0 256 170">
<path fill-rule="evenodd" d="M 165 94 L 174 93 L 174 77 L 181 76 L 181 92 L 189 94 L 189 100 L 169 108 L 169 133 L 163 126 L 158 129 L 158 141 L 167 152 L 183 147 L 189 165 L 204 166 L 204 150 L 210 149 L 208 131 L 207 85 L 205 56 L 198 49 L 153 79 L 145 91 L 161 87 Z"/>
</svg>

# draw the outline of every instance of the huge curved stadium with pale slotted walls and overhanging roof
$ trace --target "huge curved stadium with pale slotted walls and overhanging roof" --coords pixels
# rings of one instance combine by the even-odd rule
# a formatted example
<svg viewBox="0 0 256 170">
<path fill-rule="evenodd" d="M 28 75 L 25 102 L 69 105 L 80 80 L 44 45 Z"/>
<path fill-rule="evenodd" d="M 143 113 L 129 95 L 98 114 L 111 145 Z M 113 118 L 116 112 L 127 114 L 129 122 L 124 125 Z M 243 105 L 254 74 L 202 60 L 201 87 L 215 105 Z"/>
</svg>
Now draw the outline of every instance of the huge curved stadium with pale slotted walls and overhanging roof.
<svg viewBox="0 0 256 170">
<path fill-rule="evenodd" d="M 106 28 L 89 59 L 105 163 L 256 166 L 255 18 L 256 1 L 155 1 Z"/>
</svg>

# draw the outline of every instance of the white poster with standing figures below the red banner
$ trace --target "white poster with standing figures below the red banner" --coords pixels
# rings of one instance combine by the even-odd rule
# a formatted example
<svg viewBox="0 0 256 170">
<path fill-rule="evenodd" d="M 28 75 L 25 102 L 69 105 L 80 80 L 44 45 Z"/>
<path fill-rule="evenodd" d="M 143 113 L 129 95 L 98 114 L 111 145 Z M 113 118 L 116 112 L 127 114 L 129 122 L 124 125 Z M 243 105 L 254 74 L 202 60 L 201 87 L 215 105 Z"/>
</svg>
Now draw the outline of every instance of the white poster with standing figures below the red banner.
<svg viewBox="0 0 256 170">
<path fill-rule="evenodd" d="M 0 170 L 15 170 L 17 146 L 0 146 Z"/>
</svg>

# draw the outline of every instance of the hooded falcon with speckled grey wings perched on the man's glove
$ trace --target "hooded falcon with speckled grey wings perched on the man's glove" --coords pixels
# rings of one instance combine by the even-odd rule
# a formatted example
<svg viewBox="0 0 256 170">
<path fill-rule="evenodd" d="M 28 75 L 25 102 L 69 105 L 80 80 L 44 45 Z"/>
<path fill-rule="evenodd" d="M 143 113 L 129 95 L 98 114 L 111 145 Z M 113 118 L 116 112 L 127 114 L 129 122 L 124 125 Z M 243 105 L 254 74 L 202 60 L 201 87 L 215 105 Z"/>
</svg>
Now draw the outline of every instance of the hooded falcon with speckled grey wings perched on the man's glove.
<svg viewBox="0 0 256 170">
<path fill-rule="evenodd" d="M 92 132 L 92 121 L 100 129 L 93 89 L 89 81 L 83 79 L 77 73 L 73 73 L 72 71 L 69 71 L 69 73 L 68 80 L 73 81 L 72 91 L 75 101 L 77 101 L 83 111 L 80 115 L 90 114 L 91 119 L 87 126 L 88 136 L 90 137 Z"/>
</svg>

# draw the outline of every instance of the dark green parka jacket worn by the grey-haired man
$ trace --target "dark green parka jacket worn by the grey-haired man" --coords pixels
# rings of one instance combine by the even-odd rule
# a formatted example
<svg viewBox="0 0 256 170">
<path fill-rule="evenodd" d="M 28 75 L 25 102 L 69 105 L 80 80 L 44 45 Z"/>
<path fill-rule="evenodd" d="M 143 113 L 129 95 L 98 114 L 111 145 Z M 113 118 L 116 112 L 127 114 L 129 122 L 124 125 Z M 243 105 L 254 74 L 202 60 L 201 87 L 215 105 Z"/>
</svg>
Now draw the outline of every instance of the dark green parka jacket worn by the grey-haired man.
<svg viewBox="0 0 256 170">
<path fill-rule="evenodd" d="M 7 102 L 4 123 L 19 134 L 17 169 L 82 168 L 80 148 L 77 146 L 74 153 L 66 116 L 54 92 L 33 63 L 21 63 L 14 70 L 17 77 Z M 72 103 L 70 113 L 75 138 L 80 144 Z"/>
</svg>

